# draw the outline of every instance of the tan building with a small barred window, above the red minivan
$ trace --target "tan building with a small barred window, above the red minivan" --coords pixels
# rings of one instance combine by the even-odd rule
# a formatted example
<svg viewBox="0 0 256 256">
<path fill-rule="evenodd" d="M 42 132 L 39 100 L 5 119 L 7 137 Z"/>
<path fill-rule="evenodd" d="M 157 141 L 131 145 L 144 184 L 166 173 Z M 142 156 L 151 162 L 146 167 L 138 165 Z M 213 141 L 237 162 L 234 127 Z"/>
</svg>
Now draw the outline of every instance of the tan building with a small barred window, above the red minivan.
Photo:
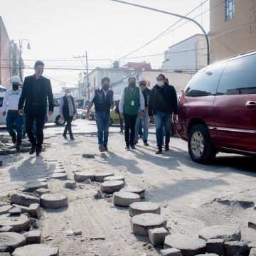
<svg viewBox="0 0 256 256">
<path fill-rule="evenodd" d="M 210 0 L 210 62 L 256 49 L 256 0 Z"/>
</svg>

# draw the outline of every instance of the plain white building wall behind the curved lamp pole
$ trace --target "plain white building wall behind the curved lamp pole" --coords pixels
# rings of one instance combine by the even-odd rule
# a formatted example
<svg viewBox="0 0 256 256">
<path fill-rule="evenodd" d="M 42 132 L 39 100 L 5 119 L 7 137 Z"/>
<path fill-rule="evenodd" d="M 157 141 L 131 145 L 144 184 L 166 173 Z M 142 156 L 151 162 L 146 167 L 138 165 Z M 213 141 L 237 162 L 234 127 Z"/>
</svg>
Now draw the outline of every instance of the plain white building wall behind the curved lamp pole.
<svg viewBox="0 0 256 256">
<path fill-rule="evenodd" d="M 207 65 L 206 37 L 196 34 L 164 52 L 162 70 L 196 73 Z"/>
</svg>

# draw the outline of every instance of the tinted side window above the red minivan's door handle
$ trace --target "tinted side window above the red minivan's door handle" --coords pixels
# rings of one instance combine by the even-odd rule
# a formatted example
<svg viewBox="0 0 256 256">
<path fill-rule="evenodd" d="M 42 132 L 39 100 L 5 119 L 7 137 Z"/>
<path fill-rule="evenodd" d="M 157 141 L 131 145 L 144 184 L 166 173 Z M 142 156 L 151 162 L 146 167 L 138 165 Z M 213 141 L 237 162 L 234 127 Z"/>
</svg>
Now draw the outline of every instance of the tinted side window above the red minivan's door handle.
<svg viewBox="0 0 256 256">
<path fill-rule="evenodd" d="M 217 92 L 217 95 L 248 94 L 256 94 L 256 54 L 230 60 Z"/>
</svg>

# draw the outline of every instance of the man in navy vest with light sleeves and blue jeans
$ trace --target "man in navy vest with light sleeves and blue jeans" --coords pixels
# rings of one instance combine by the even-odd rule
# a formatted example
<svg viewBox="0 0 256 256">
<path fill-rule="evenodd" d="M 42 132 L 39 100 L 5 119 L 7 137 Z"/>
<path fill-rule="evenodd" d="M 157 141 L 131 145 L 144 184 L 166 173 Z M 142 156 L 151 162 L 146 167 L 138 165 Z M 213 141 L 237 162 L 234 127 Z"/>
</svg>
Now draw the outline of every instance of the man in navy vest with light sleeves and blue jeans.
<svg viewBox="0 0 256 256">
<path fill-rule="evenodd" d="M 86 118 L 89 117 L 90 109 L 94 104 L 99 149 L 100 152 L 104 152 L 108 150 L 110 108 L 114 107 L 114 92 L 110 90 L 110 78 L 102 78 L 101 88 L 92 92 L 89 102 Z"/>
</svg>

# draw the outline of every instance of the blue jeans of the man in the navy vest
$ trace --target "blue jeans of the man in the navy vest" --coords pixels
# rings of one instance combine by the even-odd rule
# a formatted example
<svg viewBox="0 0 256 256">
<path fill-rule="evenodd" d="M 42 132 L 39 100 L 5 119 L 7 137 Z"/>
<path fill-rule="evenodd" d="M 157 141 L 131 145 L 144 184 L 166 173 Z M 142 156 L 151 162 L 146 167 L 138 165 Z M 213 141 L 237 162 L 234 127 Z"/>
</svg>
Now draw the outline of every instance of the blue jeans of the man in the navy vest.
<svg viewBox="0 0 256 256">
<path fill-rule="evenodd" d="M 109 128 L 110 128 L 110 113 L 95 113 L 97 124 L 97 137 L 99 144 L 107 146 Z"/>
</svg>

